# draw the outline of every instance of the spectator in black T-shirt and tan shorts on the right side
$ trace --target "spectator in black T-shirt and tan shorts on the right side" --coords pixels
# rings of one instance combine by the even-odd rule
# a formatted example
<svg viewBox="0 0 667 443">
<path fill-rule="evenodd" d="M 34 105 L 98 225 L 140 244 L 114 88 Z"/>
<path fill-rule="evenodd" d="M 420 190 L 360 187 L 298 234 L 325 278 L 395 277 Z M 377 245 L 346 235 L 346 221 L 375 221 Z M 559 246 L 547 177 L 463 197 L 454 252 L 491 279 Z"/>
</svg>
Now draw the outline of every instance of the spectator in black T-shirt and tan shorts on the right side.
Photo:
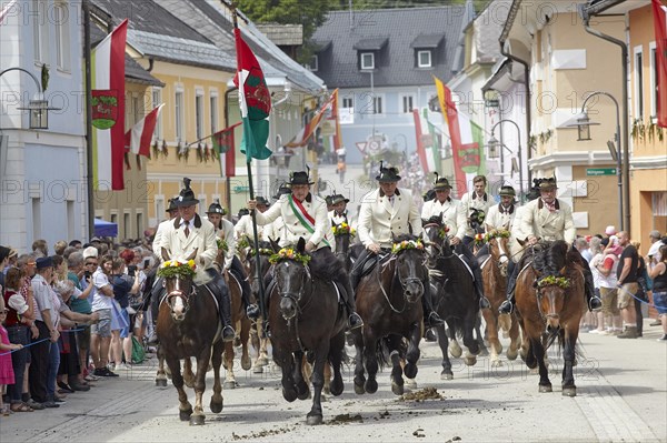
<svg viewBox="0 0 667 443">
<path fill-rule="evenodd" d="M 621 231 L 618 233 L 619 245 L 624 249 L 617 269 L 618 309 L 625 323 L 625 331 L 618 334 L 619 339 L 637 339 L 637 316 L 635 314 L 635 294 L 639 290 L 637 283 L 637 269 L 639 268 L 639 253 L 630 244 L 630 234 Z"/>
</svg>

